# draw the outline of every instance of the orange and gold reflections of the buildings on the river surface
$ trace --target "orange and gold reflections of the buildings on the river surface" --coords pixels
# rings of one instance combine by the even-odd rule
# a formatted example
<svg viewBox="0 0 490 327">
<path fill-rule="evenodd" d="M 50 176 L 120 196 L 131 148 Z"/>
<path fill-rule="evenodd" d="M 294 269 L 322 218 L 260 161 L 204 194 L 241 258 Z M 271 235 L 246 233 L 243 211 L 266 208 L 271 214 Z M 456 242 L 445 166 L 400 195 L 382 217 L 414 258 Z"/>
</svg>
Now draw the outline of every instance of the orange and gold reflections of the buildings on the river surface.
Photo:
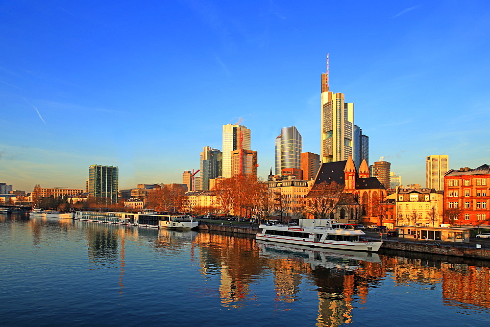
<svg viewBox="0 0 490 327">
<path fill-rule="evenodd" d="M 182 264 L 197 267 L 203 282 L 193 280 L 194 296 L 217 298 L 228 309 L 261 305 L 267 296 L 273 301 L 271 310 L 294 310 L 306 301 L 304 292 L 308 291 L 316 292 L 319 325 L 349 324 L 355 322 L 356 309 L 373 305 L 374 288 L 392 283 L 395 287 L 441 292 L 440 303 L 462 313 L 490 313 L 488 262 L 410 253 L 336 253 L 261 243 L 247 237 L 80 221 L 31 219 L 26 223 L 34 244 L 42 243 L 46 239 L 43 235 L 53 231 L 58 238 L 74 231 L 83 234 L 89 269 L 117 268 L 117 275 L 116 270 L 111 274 L 118 283 L 120 298 L 128 278 L 126 270 L 137 265 L 136 258 L 127 257 L 125 249 L 130 245 L 134 251 L 135 245 L 146 244 L 149 247 L 145 251 L 172 260 L 178 255 Z M 168 267 L 158 269 L 164 274 Z"/>
</svg>

